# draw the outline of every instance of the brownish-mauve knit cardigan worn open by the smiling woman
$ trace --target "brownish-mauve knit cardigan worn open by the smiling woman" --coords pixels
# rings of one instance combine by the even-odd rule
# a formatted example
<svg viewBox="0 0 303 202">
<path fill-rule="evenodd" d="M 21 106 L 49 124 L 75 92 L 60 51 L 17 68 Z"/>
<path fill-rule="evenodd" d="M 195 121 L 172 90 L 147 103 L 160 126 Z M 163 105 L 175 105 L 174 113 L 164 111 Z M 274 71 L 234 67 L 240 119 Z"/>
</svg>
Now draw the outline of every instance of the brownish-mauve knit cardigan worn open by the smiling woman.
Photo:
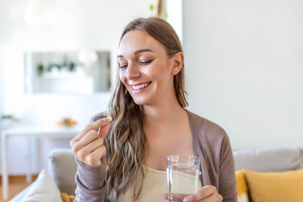
<svg viewBox="0 0 303 202">
<path fill-rule="evenodd" d="M 226 132 L 217 124 L 188 110 L 191 135 L 195 155 L 201 160 L 202 186 L 213 185 L 223 197 L 223 202 L 237 202 L 237 181 L 231 144 Z M 104 118 L 103 113 L 93 116 L 89 123 Z M 75 201 L 108 201 L 105 199 L 107 188 L 106 162 L 102 157 L 101 166 L 89 166 L 75 158 L 78 171 L 75 176 L 77 188 Z M 166 185 L 166 184 L 165 184 Z M 162 197 L 163 193 L 159 193 Z"/>
</svg>

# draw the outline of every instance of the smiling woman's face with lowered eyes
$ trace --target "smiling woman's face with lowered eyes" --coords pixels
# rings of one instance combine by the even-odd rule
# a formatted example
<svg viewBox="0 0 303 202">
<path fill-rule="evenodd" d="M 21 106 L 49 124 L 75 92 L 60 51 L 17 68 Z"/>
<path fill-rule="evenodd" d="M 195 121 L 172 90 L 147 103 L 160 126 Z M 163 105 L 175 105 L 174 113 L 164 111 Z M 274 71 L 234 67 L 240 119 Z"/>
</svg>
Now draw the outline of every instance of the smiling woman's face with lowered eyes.
<svg viewBox="0 0 303 202">
<path fill-rule="evenodd" d="M 120 80 L 136 104 L 163 101 L 174 91 L 172 61 L 163 46 L 145 32 L 134 30 L 123 36 L 118 62 Z"/>
</svg>

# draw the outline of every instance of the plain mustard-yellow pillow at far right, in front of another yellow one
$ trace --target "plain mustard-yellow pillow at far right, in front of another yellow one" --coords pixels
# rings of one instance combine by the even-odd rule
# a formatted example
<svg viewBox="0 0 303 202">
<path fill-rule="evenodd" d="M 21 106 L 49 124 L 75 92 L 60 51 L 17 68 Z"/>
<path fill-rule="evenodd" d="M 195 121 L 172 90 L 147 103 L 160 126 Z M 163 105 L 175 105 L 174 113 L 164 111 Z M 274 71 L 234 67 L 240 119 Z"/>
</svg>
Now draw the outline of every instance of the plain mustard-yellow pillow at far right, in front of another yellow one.
<svg viewBox="0 0 303 202">
<path fill-rule="evenodd" d="M 243 171 L 250 199 L 255 201 L 303 201 L 303 169 L 284 172 Z"/>
</svg>

